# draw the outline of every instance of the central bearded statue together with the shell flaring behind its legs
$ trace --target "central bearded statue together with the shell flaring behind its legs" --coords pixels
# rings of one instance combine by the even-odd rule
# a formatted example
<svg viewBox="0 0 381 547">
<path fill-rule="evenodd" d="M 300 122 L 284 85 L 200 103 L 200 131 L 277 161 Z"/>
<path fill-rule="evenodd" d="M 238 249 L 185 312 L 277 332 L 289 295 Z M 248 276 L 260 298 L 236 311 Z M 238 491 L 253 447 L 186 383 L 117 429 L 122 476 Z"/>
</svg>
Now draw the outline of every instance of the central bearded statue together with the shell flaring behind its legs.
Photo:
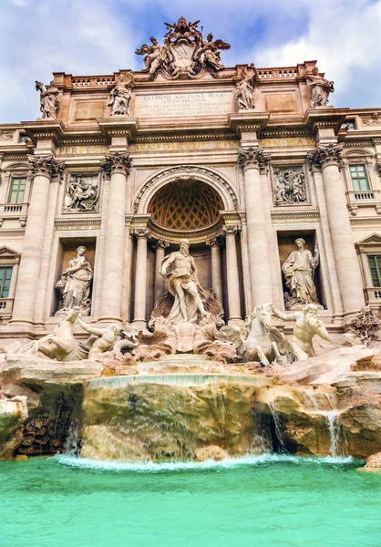
<svg viewBox="0 0 381 547">
<path fill-rule="evenodd" d="M 152 317 L 162 315 L 172 325 L 200 323 L 202 319 L 210 317 L 217 325 L 223 325 L 222 306 L 212 291 L 201 287 L 189 249 L 189 241 L 183 239 L 180 241 L 180 250 L 170 253 L 161 263 L 160 274 L 167 278 L 169 292 L 155 304 Z"/>
</svg>

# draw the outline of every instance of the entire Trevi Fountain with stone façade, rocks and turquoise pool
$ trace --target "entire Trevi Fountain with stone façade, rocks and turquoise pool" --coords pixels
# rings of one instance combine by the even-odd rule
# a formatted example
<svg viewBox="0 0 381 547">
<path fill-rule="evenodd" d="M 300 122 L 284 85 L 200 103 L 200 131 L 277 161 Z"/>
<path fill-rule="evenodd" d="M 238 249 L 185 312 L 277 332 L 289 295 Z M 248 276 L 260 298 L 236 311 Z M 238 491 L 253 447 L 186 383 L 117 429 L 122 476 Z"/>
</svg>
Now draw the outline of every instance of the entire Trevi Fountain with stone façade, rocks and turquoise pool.
<svg viewBox="0 0 381 547">
<path fill-rule="evenodd" d="M 378 114 L 166 25 L 2 155 L 2 544 L 379 547 Z"/>
</svg>

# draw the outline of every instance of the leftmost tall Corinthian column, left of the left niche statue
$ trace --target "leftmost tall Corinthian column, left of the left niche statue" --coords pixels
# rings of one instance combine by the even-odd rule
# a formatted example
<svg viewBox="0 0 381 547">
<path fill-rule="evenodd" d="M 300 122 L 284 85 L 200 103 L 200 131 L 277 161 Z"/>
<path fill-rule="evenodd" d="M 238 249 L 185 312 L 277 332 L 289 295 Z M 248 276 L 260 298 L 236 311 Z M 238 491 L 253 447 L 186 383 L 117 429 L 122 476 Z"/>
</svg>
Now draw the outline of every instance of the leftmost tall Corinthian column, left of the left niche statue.
<svg viewBox="0 0 381 547">
<path fill-rule="evenodd" d="M 29 164 L 33 187 L 15 290 L 13 323 L 33 323 L 44 247 L 50 181 L 54 175 L 60 176 L 64 170 L 64 165 L 58 163 L 53 156 L 30 156 Z"/>
</svg>

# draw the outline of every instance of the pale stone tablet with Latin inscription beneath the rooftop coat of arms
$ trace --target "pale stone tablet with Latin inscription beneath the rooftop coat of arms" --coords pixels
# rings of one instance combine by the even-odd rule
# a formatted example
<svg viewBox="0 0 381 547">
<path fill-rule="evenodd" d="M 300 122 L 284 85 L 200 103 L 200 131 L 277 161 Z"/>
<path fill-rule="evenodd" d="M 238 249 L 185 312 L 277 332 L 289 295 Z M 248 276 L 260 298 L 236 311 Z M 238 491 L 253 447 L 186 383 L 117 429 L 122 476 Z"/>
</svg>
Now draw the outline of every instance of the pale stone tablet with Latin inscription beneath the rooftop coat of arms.
<svg viewBox="0 0 381 547">
<path fill-rule="evenodd" d="M 179 116 L 218 116 L 233 111 L 232 92 L 170 93 L 137 95 L 137 118 L 175 118 Z"/>
</svg>

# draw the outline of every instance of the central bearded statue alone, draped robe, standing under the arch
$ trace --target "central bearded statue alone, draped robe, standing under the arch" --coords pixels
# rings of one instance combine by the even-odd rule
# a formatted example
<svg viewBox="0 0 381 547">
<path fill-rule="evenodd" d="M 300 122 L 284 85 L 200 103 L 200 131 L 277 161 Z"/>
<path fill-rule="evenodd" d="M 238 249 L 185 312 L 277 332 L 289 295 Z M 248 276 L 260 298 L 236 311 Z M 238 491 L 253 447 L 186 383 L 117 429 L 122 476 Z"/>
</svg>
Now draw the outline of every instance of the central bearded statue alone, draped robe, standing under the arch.
<svg viewBox="0 0 381 547">
<path fill-rule="evenodd" d="M 174 325 L 195 323 L 199 316 L 208 315 L 203 304 L 207 295 L 199 284 L 196 264 L 189 250 L 189 241 L 181 240 L 180 250 L 164 258 L 160 267 L 160 274 L 167 277 L 168 289 L 175 298 L 167 317 Z"/>
</svg>

